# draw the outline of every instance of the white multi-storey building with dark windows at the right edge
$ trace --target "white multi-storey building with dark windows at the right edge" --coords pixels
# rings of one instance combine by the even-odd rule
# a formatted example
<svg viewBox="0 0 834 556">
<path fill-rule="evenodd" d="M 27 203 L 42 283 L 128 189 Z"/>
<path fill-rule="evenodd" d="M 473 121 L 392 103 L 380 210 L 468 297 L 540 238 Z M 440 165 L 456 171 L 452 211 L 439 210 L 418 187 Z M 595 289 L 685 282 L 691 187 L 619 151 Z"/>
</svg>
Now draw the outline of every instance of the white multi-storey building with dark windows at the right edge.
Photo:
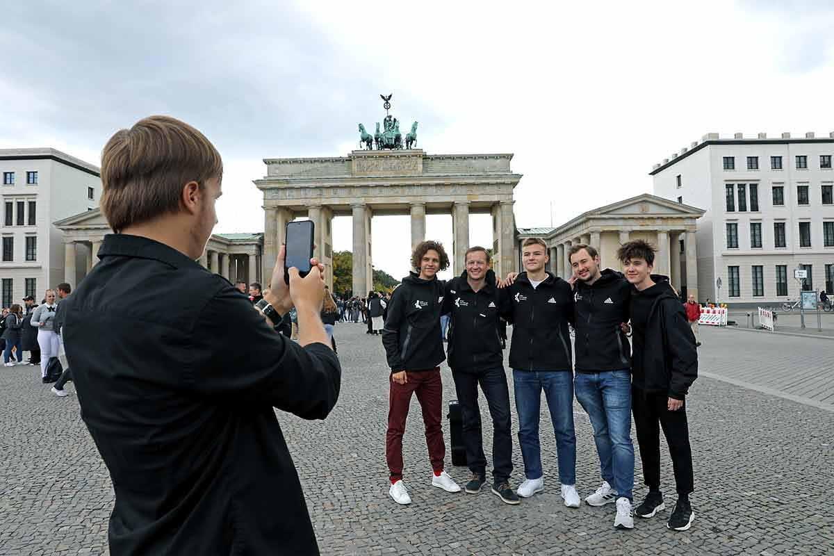
<svg viewBox="0 0 834 556">
<path fill-rule="evenodd" d="M 834 133 L 708 133 L 654 166 L 658 197 L 706 209 L 696 231 L 700 301 L 796 299 L 800 266 L 806 289 L 834 293 L 832 156 Z"/>
</svg>

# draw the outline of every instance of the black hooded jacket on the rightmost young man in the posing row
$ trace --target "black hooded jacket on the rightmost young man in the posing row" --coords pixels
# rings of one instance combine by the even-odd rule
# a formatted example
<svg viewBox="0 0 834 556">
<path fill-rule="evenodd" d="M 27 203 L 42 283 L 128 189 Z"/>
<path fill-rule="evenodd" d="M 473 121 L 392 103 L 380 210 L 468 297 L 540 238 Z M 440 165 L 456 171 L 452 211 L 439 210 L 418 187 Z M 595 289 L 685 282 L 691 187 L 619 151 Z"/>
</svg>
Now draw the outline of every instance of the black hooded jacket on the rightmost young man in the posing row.
<svg viewBox="0 0 834 556">
<path fill-rule="evenodd" d="M 684 399 L 698 378 L 695 335 L 669 279 L 651 278 L 654 286 L 631 293 L 633 383 L 646 393 Z"/>
</svg>

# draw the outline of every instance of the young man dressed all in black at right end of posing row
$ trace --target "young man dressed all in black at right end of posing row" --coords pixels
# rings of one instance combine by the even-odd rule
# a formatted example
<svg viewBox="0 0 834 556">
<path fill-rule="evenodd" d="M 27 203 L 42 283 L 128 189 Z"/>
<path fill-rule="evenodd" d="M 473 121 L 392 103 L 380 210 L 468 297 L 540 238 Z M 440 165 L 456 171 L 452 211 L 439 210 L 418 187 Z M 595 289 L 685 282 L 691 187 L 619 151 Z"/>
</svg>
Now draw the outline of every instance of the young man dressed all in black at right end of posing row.
<svg viewBox="0 0 834 556">
<path fill-rule="evenodd" d="M 625 243 L 617 250 L 625 279 L 635 287 L 629 309 L 634 342 L 631 408 L 643 462 L 643 482 L 649 487 L 635 514 L 651 518 L 666 508 L 661 492 L 662 428 L 678 496 L 666 527 L 686 531 L 695 512 L 689 500 L 694 478 L 685 400 L 698 376 L 698 352 L 695 336 L 686 322 L 686 311 L 669 279 L 651 274 L 655 253 L 656 248 L 642 239 Z"/>
</svg>

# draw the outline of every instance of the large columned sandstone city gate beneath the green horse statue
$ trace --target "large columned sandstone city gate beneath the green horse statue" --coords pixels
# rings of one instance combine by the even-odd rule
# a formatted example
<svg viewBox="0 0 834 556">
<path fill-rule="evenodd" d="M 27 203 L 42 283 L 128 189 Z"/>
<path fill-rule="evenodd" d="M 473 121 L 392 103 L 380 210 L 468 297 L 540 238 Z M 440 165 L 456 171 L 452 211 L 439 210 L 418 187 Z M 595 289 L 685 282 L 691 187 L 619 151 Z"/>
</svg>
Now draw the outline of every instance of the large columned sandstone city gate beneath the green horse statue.
<svg viewBox="0 0 834 556">
<path fill-rule="evenodd" d="M 425 239 L 425 215 L 451 213 L 454 271 L 464 269 L 470 213 L 490 213 L 496 272 L 515 268 L 512 154 L 426 154 L 420 149 L 353 151 L 337 158 L 266 158 L 264 276 L 271 272 L 284 227 L 299 216 L 315 224 L 315 256 L 333 287 L 334 216 L 352 216 L 353 291 L 372 288 L 371 216 L 409 214 L 411 243 Z"/>
</svg>

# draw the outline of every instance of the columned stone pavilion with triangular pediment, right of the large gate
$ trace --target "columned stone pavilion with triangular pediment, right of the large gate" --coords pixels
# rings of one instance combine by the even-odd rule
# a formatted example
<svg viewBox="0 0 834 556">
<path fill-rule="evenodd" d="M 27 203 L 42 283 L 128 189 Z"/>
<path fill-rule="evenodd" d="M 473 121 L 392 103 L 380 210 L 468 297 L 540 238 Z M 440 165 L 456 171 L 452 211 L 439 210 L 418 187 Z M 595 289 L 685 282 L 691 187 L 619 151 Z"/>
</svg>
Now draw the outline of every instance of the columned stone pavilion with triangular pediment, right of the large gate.
<svg viewBox="0 0 834 556">
<path fill-rule="evenodd" d="M 649 193 L 595 208 L 559 228 L 519 228 L 519 249 L 526 238 L 542 238 L 550 251 L 550 272 L 570 278 L 568 252 L 575 244 L 590 245 L 600 253 L 602 268 L 620 268 L 617 248 L 630 239 L 657 246 L 654 272 L 669 276 L 678 292 L 698 298 L 696 221 L 701 208 L 669 201 Z M 519 268 L 523 268 L 518 261 Z M 702 294 L 701 294 L 701 297 Z"/>
</svg>

